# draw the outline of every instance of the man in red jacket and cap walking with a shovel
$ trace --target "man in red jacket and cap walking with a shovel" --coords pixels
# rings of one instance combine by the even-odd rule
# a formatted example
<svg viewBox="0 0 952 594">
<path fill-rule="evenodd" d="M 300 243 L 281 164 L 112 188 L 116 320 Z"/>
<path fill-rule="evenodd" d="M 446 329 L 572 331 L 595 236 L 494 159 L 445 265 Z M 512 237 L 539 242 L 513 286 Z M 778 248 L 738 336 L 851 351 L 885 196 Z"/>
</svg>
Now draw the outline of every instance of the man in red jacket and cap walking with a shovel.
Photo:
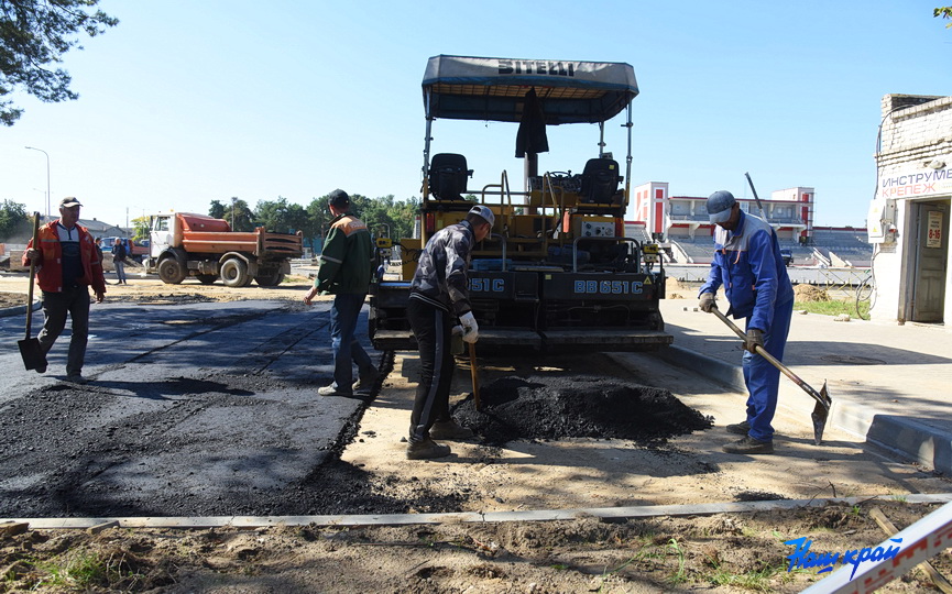
<svg viewBox="0 0 952 594">
<path fill-rule="evenodd" d="M 48 353 L 53 343 L 66 327 L 66 316 L 73 319 L 73 338 L 66 360 L 66 380 L 85 384 L 83 363 L 86 360 L 86 343 L 89 336 L 89 289 L 96 294 L 96 302 L 106 297 L 106 278 L 102 260 L 92 237 L 78 224 L 79 200 L 64 198 L 59 201 L 59 218 L 40 228 L 40 249 L 33 240 L 23 252 L 23 265 L 34 263 L 43 292 L 43 314 L 46 320 L 37 337 L 43 353 Z M 46 365 L 36 367 L 45 373 Z"/>
</svg>

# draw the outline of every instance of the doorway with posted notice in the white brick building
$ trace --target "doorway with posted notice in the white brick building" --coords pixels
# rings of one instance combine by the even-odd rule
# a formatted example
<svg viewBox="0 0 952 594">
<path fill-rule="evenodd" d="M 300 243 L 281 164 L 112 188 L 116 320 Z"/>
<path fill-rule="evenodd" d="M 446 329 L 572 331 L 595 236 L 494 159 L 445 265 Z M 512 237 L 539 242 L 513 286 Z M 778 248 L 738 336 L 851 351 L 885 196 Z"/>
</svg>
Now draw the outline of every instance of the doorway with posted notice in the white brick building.
<svg viewBox="0 0 952 594">
<path fill-rule="evenodd" d="M 912 321 L 943 322 L 949 262 L 949 200 L 916 202 Z"/>
</svg>

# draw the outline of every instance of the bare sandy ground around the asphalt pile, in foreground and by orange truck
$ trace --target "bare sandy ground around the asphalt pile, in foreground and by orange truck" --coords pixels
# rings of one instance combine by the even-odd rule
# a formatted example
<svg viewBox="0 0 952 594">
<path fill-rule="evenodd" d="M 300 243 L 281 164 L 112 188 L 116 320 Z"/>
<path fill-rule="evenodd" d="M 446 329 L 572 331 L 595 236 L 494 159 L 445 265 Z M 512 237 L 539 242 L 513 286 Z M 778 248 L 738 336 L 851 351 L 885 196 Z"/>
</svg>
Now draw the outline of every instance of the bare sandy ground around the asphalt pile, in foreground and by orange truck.
<svg viewBox="0 0 952 594">
<path fill-rule="evenodd" d="M 129 286 L 109 286 L 107 299 L 297 302 L 307 286 L 303 277 L 275 288 L 242 289 L 131 277 Z M 0 276 L 0 292 L 22 301 L 25 277 Z M 807 537 L 818 553 L 875 547 L 886 535 L 868 516 L 871 508 L 882 508 L 901 529 L 939 507 L 905 503 L 902 494 L 952 491 L 945 477 L 864 453 L 832 430 L 818 450 L 811 429 L 783 415 L 780 455 L 722 454 L 718 444 L 727 440 L 722 426 L 735 420 L 731 414 L 741 410 L 743 397 L 718 388 L 700 392 L 697 380 L 643 355 L 550 358 L 543 364 L 483 353 L 482 414 L 473 410 L 469 369 L 461 363 L 453 414 L 484 439 L 452 442 L 453 454 L 444 461 L 409 462 L 403 436 L 416 359 L 398 353 L 384 371 L 387 378 L 352 442 L 314 486 L 343 502 L 340 513 L 381 513 L 359 507 L 366 497 L 350 503 L 348 492 L 357 491 L 403 498 L 407 513 L 895 497 L 856 506 L 611 521 L 4 532 L 0 592 L 799 592 L 818 580 L 817 570 L 788 572 L 794 547 L 785 541 Z M 586 383 L 598 387 L 578 389 Z M 580 405 L 559 397 L 573 387 L 593 399 Z M 519 394 L 539 392 L 551 397 L 506 409 Z M 615 418 L 592 421 L 602 429 L 617 427 L 617 433 L 580 432 L 602 400 L 620 399 L 637 405 L 613 407 Z M 576 422 L 518 426 L 547 403 L 561 407 L 551 418 Z M 948 554 L 933 564 L 952 576 Z M 934 590 L 916 571 L 882 591 Z"/>
</svg>

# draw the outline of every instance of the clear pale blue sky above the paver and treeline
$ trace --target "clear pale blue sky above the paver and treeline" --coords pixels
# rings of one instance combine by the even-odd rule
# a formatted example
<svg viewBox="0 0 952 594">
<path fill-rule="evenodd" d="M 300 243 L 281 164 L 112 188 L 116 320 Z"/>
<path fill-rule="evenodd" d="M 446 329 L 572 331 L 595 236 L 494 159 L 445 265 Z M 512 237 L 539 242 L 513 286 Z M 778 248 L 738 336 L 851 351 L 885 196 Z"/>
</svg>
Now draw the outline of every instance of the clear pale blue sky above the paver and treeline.
<svg viewBox="0 0 952 594">
<path fill-rule="evenodd" d="M 79 100 L 14 97 L 26 111 L 0 128 L 0 199 L 46 210 L 46 158 L 26 145 L 50 154 L 54 210 L 77 196 L 84 218 L 116 224 L 232 196 L 419 196 L 420 81 L 452 54 L 626 62 L 633 185 L 748 197 L 749 172 L 762 198 L 812 186 L 816 224 L 861 227 L 882 97 L 952 92 L 940 3 L 102 0 L 120 24 L 63 65 Z M 606 132 L 619 161 L 621 123 Z M 521 187 L 515 133 L 437 121 L 434 152 L 467 155 L 470 189 L 503 169 Z M 539 168 L 578 173 L 597 143 L 592 125 L 550 130 Z"/>
</svg>

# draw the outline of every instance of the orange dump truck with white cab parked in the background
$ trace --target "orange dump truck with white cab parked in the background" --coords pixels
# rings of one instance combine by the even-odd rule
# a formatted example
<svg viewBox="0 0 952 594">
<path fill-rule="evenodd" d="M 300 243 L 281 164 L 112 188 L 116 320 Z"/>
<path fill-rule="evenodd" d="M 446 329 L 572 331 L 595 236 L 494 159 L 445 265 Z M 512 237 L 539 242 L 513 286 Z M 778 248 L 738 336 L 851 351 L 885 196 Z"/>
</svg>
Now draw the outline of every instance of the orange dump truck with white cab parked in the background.
<svg viewBox="0 0 952 594">
<path fill-rule="evenodd" d="M 229 287 L 252 280 L 273 287 L 304 253 L 299 233 L 273 233 L 263 227 L 232 231 L 225 219 L 190 212 L 150 215 L 149 229 L 146 268 L 169 285 L 195 276 L 206 285 L 221 278 Z"/>
</svg>

